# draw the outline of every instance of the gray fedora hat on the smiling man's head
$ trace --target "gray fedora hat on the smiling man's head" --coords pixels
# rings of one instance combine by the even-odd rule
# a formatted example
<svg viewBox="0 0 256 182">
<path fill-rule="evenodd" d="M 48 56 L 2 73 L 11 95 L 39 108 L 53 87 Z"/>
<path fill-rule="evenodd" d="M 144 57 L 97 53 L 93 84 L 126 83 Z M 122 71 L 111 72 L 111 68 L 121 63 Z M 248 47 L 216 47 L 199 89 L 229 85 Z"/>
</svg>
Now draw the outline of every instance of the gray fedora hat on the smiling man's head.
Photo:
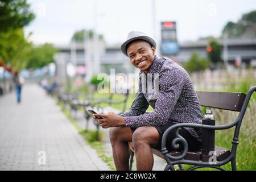
<svg viewBox="0 0 256 182">
<path fill-rule="evenodd" d="M 143 32 L 136 32 L 136 31 L 131 31 L 129 32 L 128 36 L 127 36 L 127 40 L 126 42 L 124 42 L 121 46 L 121 51 L 126 55 L 127 55 L 127 45 L 130 44 L 131 42 L 135 41 L 135 40 L 144 40 L 148 43 L 151 44 L 151 46 L 156 48 L 156 43 L 155 40 L 153 40 L 152 38 L 150 38 L 149 36 L 147 36 L 146 34 L 144 34 Z"/>
</svg>

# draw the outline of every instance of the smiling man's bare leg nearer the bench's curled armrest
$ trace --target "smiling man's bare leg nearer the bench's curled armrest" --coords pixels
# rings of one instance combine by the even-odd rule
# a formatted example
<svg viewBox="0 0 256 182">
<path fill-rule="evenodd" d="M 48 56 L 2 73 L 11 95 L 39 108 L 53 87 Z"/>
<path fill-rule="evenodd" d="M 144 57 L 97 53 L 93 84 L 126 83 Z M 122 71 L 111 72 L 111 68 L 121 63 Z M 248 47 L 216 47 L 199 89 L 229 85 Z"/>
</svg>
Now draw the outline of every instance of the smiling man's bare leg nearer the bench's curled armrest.
<svg viewBox="0 0 256 182">
<path fill-rule="evenodd" d="M 136 156 L 138 171 L 151 171 L 154 164 L 154 157 L 151 147 L 158 144 L 159 133 L 155 127 L 139 127 L 133 134 L 133 145 Z"/>
</svg>

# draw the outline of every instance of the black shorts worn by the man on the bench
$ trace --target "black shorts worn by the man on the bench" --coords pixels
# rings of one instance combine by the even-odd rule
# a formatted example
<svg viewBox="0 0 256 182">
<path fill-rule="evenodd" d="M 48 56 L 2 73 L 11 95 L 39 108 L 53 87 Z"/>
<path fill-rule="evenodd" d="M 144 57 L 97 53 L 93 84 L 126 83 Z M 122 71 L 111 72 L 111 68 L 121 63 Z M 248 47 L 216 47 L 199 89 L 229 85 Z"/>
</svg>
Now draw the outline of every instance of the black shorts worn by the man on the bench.
<svg viewBox="0 0 256 182">
<path fill-rule="evenodd" d="M 170 122 L 170 123 L 168 123 L 167 125 L 164 125 L 164 126 L 154 126 L 156 128 L 156 130 L 158 130 L 158 133 L 159 133 L 160 137 L 159 137 L 157 146 L 155 146 L 153 148 L 158 149 L 158 150 L 161 149 L 161 142 L 162 142 L 164 131 L 166 131 L 168 129 L 168 127 L 173 126 L 175 124 L 176 123 Z M 134 133 L 134 131 L 137 128 L 131 127 L 130 129 Z M 177 129 L 174 129 L 168 134 L 167 141 L 166 141 L 166 148 L 167 148 L 168 151 L 173 151 L 174 150 L 171 146 L 171 142 L 174 138 L 176 138 L 176 131 L 177 131 Z M 181 135 L 181 137 L 183 137 L 185 140 L 187 140 L 187 142 L 188 142 L 188 151 L 200 151 L 201 150 L 201 142 L 196 140 L 187 130 L 181 128 L 181 130 L 179 131 L 179 134 Z M 180 144 L 180 148 L 177 151 L 183 151 L 182 144 Z"/>
</svg>

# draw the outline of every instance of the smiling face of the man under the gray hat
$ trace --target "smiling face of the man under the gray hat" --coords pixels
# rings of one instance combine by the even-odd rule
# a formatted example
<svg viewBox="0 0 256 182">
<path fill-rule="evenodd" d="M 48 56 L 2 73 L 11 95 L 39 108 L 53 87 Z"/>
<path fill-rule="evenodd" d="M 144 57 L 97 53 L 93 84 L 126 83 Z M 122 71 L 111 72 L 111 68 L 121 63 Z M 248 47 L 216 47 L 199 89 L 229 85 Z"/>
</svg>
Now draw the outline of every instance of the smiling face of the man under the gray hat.
<svg viewBox="0 0 256 182">
<path fill-rule="evenodd" d="M 155 59 L 155 48 L 144 40 L 132 42 L 127 47 L 127 55 L 134 67 L 145 71 L 149 71 L 151 64 Z"/>
</svg>

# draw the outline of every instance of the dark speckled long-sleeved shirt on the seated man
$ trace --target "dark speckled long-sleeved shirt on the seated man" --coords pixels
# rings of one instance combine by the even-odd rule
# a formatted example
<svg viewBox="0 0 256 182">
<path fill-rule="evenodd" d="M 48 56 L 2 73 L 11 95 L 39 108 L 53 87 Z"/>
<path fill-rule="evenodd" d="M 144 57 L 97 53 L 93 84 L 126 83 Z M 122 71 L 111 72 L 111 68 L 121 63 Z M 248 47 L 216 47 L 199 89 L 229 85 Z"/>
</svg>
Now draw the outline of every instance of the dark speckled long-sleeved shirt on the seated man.
<svg viewBox="0 0 256 182">
<path fill-rule="evenodd" d="M 159 87 L 157 97 L 154 97 L 155 93 L 148 92 L 147 86 L 146 92 L 143 92 L 142 78 L 148 75 L 152 75 L 152 80 L 158 75 L 156 81 L 159 85 L 152 84 L 153 89 Z M 126 127 L 163 126 L 168 122 L 201 124 L 203 115 L 191 79 L 187 71 L 175 61 L 155 56 L 147 76 L 143 71 L 139 76 L 139 92 L 130 109 L 121 114 L 125 117 Z M 154 111 L 146 113 L 149 105 Z M 200 129 L 185 129 L 201 141 Z"/>
</svg>

